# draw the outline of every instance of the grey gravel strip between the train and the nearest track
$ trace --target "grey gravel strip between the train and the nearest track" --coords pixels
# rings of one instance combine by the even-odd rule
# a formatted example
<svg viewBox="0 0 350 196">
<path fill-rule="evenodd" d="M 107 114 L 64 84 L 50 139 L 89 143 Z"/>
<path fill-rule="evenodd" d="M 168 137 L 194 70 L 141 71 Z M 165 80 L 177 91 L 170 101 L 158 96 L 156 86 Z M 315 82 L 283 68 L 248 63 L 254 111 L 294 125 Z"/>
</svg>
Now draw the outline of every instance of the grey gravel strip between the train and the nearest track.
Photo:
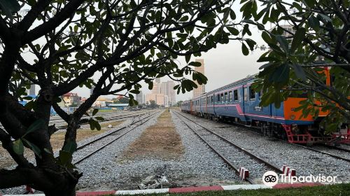
<svg viewBox="0 0 350 196">
<path fill-rule="evenodd" d="M 350 181 L 349 162 L 292 146 L 284 141 L 262 137 L 260 134 L 235 125 L 225 125 L 190 114 L 182 114 L 274 165 L 282 167 L 283 164 L 286 164 L 296 169 L 297 176 L 324 174 L 325 176 L 337 176 L 339 181 Z"/>
</svg>

